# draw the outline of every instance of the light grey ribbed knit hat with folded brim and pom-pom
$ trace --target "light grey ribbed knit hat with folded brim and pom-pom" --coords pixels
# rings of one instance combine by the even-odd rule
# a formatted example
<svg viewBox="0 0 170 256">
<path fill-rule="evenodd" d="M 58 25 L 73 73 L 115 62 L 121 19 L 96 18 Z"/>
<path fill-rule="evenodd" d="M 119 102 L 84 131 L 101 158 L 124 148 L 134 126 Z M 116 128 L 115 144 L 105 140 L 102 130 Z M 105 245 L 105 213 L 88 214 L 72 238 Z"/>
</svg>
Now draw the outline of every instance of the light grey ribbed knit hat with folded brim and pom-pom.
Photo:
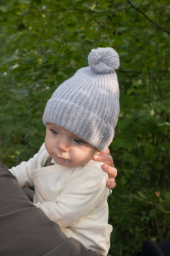
<svg viewBox="0 0 170 256">
<path fill-rule="evenodd" d="M 112 142 L 119 115 L 118 53 L 93 49 L 89 67 L 80 68 L 54 91 L 43 123 L 54 123 L 103 151 Z"/>
</svg>

